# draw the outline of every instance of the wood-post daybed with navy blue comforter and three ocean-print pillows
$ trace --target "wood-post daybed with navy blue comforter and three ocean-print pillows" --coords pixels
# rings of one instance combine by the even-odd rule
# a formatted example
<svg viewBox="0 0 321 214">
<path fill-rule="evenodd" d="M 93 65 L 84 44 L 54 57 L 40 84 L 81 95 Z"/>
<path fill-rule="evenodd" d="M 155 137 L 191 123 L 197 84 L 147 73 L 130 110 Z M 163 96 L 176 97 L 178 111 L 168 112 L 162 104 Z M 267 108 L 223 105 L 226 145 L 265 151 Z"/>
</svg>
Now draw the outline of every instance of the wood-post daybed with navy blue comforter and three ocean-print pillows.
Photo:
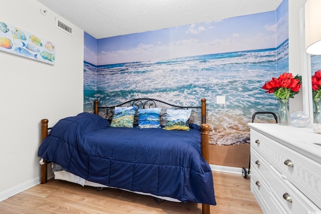
<svg viewBox="0 0 321 214">
<path fill-rule="evenodd" d="M 202 203 L 203 213 L 216 205 L 205 98 L 194 107 L 149 98 L 101 107 L 95 100 L 93 109 L 52 128 L 41 120 L 41 183 L 52 163 L 55 179 Z"/>
</svg>

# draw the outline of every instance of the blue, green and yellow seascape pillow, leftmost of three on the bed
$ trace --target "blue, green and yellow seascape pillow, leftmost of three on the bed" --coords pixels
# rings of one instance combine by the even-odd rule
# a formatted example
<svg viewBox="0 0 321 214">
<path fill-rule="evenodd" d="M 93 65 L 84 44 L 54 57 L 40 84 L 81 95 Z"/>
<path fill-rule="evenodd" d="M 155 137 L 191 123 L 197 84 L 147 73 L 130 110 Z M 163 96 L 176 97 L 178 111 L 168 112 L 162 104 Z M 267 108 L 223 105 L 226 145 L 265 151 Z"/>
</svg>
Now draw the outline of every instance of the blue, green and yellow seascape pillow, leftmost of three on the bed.
<svg viewBox="0 0 321 214">
<path fill-rule="evenodd" d="M 132 128 L 136 109 L 137 106 L 115 107 L 110 126 Z"/>
</svg>

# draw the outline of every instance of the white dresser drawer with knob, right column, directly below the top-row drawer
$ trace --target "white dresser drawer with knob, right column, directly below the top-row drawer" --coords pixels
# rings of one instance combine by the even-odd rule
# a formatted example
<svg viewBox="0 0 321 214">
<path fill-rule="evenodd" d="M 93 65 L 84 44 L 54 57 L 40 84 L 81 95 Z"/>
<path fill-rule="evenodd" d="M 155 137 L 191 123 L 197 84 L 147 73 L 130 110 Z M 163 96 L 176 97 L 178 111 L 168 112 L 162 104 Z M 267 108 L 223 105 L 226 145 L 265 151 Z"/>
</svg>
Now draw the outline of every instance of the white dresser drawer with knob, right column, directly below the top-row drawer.
<svg viewBox="0 0 321 214">
<path fill-rule="evenodd" d="M 321 211 L 302 192 L 271 167 L 274 182 L 270 183 L 271 192 L 288 213 L 308 213 Z"/>
</svg>

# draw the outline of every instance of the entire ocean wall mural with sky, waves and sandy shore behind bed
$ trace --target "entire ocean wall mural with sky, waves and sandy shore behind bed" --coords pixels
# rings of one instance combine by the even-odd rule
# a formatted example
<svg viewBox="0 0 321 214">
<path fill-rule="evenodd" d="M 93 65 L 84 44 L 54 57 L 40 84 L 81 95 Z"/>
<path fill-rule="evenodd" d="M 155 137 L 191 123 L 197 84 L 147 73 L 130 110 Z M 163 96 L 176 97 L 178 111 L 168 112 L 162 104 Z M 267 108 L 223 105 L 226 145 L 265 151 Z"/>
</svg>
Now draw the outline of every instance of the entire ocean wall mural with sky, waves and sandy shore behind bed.
<svg viewBox="0 0 321 214">
<path fill-rule="evenodd" d="M 277 11 L 104 38 L 96 46 L 87 35 L 84 111 L 95 99 L 114 105 L 150 97 L 191 106 L 204 97 L 210 143 L 249 142 L 252 114 L 278 108 L 261 87 L 288 72 L 287 12 L 283 1 Z M 93 53 L 96 64 L 86 60 Z M 216 104 L 217 96 L 226 103 Z"/>
</svg>

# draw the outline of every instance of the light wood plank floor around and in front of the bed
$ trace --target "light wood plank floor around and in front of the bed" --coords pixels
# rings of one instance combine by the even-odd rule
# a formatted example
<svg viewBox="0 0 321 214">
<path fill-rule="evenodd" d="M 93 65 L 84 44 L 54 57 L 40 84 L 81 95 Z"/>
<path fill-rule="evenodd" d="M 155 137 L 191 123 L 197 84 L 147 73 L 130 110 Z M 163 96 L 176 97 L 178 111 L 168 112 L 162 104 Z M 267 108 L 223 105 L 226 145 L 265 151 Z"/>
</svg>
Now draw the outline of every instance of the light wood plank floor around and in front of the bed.
<svg viewBox="0 0 321 214">
<path fill-rule="evenodd" d="M 250 179 L 242 175 L 213 172 L 217 205 L 212 213 L 262 213 L 252 192 Z M 164 201 L 151 196 L 105 188 L 82 187 L 50 179 L 0 202 L 0 213 L 202 213 L 202 204 Z"/>
</svg>

